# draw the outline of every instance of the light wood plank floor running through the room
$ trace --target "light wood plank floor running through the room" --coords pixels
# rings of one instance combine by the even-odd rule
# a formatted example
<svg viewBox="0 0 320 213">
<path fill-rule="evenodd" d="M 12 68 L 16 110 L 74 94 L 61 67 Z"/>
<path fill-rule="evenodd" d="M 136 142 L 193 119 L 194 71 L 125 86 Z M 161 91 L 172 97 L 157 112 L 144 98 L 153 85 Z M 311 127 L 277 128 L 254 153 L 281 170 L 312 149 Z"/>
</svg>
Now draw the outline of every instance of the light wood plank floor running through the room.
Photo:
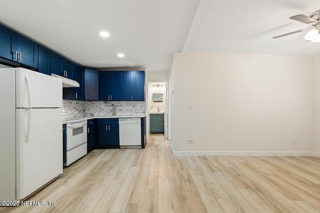
<svg viewBox="0 0 320 213">
<path fill-rule="evenodd" d="M 320 212 L 315 157 L 173 157 L 152 135 L 144 150 L 93 150 L 30 201 L 54 207 L 2 207 L 18 213 Z"/>
</svg>

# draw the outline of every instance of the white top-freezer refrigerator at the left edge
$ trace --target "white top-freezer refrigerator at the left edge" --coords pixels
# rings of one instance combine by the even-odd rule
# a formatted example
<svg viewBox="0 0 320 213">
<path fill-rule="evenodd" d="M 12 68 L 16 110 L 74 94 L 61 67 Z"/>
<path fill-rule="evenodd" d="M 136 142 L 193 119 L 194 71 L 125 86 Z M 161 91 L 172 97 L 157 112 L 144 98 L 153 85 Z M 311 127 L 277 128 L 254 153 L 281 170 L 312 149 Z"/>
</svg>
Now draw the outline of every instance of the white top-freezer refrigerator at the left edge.
<svg viewBox="0 0 320 213">
<path fill-rule="evenodd" d="M 62 173 L 62 81 L 0 68 L 0 98 L 0 201 L 22 200 Z"/>
</svg>

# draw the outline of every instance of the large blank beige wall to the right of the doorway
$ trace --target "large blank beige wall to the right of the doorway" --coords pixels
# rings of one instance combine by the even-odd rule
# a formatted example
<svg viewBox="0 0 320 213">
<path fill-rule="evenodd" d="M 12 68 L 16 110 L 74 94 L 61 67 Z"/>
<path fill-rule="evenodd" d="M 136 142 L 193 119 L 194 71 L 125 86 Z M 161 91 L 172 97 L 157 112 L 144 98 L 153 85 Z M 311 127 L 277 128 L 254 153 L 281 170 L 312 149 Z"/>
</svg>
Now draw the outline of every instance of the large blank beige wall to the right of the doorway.
<svg viewBox="0 0 320 213">
<path fill-rule="evenodd" d="M 169 70 L 174 151 L 314 152 L 314 64 L 313 56 L 174 53 Z"/>
</svg>

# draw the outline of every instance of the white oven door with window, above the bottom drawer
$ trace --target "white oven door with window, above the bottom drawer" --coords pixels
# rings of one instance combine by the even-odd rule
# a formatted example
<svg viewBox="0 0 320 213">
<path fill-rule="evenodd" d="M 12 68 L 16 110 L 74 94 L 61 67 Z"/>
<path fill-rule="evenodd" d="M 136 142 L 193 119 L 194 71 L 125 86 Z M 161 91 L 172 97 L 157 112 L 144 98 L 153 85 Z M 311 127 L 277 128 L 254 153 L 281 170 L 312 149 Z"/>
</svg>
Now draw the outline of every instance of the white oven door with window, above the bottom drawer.
<svg viewBox="0 0 320 213">
<path fill-rule="evenodd" d="M 66 151 L 86 143 L 86 120 L 66 124 Z"/>
</svg>

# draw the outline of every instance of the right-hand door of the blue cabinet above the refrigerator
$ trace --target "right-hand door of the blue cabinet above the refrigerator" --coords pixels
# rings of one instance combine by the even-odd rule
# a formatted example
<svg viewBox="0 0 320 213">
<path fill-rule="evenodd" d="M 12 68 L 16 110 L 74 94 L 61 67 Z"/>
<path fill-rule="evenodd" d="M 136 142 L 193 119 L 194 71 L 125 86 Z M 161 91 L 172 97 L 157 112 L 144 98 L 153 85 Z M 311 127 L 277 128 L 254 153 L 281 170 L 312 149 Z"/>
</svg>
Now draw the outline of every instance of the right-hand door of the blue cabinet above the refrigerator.
<svg viewBox="0 0 320 213">
<path fill-rule="evenodd" d="M 17 34 L 17 62 L 38 68 L 38 44 Z"/>
</svg>

